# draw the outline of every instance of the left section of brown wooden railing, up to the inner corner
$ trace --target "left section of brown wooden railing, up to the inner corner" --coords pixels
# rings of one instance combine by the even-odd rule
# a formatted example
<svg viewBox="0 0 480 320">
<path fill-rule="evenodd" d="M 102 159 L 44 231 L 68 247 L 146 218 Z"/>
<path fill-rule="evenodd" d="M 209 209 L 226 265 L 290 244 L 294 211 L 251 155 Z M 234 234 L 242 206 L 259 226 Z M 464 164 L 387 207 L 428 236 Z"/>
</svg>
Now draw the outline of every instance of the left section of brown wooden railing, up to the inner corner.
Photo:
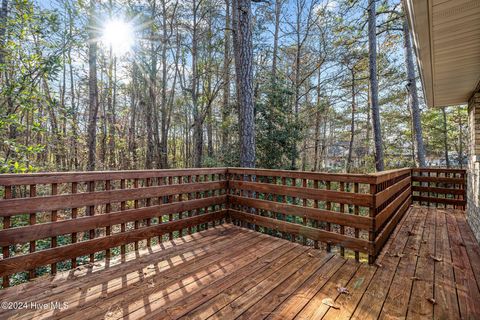
<svg viewBox="0 0 480 320">
<path fill-rule="evenodd" d="M 226 168 L 0 175 L 3 287 L 222 222 Z M 59 219 L 60 218 L 60 219 Z"/>
</svg>

